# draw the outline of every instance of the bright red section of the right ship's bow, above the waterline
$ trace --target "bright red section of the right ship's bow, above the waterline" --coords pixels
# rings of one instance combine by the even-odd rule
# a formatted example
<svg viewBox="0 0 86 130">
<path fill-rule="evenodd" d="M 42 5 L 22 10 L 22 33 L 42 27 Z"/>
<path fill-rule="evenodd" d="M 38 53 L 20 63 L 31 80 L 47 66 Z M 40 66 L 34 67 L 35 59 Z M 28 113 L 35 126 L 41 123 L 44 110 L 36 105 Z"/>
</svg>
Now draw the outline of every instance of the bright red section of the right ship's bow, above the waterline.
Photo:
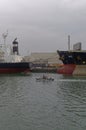
<svg viewBox="0 0 86 130">
<path fill-rule="evenodd" d="M 57 70 L 58 74 L 73 74 L 75 70 L 76 65 L 75 64 L 65 64 L 61 68 Z"/>
</svg>

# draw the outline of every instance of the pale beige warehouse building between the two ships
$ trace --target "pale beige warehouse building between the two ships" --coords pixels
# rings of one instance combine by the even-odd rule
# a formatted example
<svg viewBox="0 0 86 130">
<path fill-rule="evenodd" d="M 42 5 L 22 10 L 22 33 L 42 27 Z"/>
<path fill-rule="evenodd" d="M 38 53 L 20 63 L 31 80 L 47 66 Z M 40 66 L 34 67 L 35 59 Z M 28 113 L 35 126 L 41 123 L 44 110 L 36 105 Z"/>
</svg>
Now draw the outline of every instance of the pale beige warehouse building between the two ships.
<svg viewBox="0 0 86 130">
<path fill-rule="evenodd" d="M 26 61 L 32 62 L 34 66 L 58 67 L 62 62 L 56 52 L 35 52 L 25 57 Z"/>
</svg>

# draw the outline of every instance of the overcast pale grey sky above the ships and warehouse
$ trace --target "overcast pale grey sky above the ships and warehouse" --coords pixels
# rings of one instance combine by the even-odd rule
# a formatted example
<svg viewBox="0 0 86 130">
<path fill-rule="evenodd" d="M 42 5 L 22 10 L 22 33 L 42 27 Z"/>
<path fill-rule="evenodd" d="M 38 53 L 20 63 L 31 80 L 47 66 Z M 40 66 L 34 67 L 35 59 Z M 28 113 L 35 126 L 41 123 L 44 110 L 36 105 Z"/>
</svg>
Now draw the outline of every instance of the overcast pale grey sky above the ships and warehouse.
<svg viewBox="0 0 86 130">
<path fill-rule="evenodd" d="M 82 42 L 86 49 L 86 0 L 0 0 L 0 42 L 17 37 L 20 53 L 54 52 Z"/>
</svg>

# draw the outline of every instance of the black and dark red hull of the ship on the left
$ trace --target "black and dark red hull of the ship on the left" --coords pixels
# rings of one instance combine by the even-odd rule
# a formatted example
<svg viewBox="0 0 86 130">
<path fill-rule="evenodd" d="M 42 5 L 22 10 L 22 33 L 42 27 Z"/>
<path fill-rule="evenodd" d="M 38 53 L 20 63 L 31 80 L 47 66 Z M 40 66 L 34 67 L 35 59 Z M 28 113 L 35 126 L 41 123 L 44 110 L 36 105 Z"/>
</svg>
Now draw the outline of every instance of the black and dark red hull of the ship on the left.
<svg viewBox="0 0 86 130">
<path fill-rule="evenodd" d="M 30 71 L 28 62 L 0 63 L 0 74 L 19 74 Z"/>
</svg>

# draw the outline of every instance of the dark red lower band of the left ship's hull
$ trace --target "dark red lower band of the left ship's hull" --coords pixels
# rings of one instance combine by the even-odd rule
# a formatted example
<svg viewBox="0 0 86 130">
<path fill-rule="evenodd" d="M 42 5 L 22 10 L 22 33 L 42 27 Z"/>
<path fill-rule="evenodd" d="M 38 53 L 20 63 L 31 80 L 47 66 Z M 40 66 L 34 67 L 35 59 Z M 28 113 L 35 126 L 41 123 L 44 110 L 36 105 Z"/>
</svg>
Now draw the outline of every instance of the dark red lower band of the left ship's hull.
<svg viewBox="0 0 86 130">
<path fill-rule="evenodd" d="M 30 70 L 26 68 L 0 68 L 0 74 L 17 74 L 28 72 L 30 72 Z"/>
</svg>

